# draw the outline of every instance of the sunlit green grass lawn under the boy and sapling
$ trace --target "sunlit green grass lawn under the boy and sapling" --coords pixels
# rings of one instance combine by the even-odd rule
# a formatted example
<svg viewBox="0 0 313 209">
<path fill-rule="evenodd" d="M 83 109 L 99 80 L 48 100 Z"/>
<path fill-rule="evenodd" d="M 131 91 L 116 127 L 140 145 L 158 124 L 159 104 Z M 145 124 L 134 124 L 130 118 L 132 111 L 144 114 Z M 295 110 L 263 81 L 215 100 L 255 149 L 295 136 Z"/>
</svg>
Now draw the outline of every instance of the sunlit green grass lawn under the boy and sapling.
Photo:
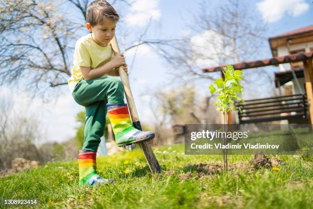
<svg viewBox="0 0 313 209">
<path fill-rule="evenodd" d="M 235 175 L 229 171 L 180 180 L 179 175 L 188 172 L 187 164 L 221 163 L 222 156 L 184 155 L 183 144 L 154 152 L 162 170 L 175 170 L 173 175 L 151 175 L 138 149 L 97 158 L 99 175 L 115 178 L 112 184 L 81 188 L 77 160 L 59 161 L 0 178 L 0 197 L 37 198 L 37 207 L 46 208 L 312 208 L 311 155 L 277 156 L 285 162 L 280 172 L 260 169 Z M 230 155 L 229 163 L 251 158 Z M 129 174 L 123 172 L 126 169 Z"/>
</svg>

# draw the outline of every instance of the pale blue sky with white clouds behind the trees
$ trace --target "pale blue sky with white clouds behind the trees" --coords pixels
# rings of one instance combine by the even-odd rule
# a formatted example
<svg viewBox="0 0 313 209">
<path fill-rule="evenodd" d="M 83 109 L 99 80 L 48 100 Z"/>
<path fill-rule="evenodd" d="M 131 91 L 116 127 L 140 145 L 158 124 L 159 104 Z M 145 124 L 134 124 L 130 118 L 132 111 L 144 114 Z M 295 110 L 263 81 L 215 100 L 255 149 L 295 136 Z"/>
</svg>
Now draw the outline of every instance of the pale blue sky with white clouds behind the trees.
<svg viewBox="0 0 313 209">
<path fill-rule="evenodd" d="M 190 32 L 186 26 L 193 23 L 191 13 L 199 11 L 200 1 L 134 0 L 133 2 L 131 7 L 116 5 L 117 10 L 122 13 L 123 24 L 126 24 L 131 31 L 142 31 L 151 18 L 147 38 L 175 38 Z M 210 2 L 208 5 L 214 6 L 219 1 Z M 65 9 L 71 11 L 72 8 Z M 263 22 L 267 23 L 268 37 L 313 24 L 313 4 L 310 0 L 252 0 L 249 1 L 248 9 L 260 15 Z M 81 32 L 82 35 L 87 33 L 87 31 Z M 130 37 L 125 37 L 126 42 L 139 34 L 132 33 Z M 135 50 L 126 52 L 128 65 L 134 54 Z M 262 56 L 260 58 L 268 58 L 272 54 L 269 50 Z M 151 109 L 147 106 L 147 102 L 151 99 L 149 91 L 171 85 L 173 79 L 169 75 L 171 68 L 148 47 L 143 46 L 138 49 L 135 64 L 130 70 L 129 80 L 139 118 L 141 121 L 149 122 L 153 120 Z M 207 89 L 209 93 L 208 86 L 207 83 L 200 88 Z M 38 143 L 61 142 L 75 135 L 75 127 L 78 126 L 75 121 L 76 114 L 84 110 L 84 107 L 74 101 L 67 85 L 58 90 L 61 96 L 50 103 L 42 103 L 40 98 L 31 100 L 23 92 L 11 94 L 11 90 L 5 86 L 0 87 L 0 95 L 12 96 L 15 109 L 28 112 L 38 118 L 42 130 L 42 139 Z"/>
</svg>

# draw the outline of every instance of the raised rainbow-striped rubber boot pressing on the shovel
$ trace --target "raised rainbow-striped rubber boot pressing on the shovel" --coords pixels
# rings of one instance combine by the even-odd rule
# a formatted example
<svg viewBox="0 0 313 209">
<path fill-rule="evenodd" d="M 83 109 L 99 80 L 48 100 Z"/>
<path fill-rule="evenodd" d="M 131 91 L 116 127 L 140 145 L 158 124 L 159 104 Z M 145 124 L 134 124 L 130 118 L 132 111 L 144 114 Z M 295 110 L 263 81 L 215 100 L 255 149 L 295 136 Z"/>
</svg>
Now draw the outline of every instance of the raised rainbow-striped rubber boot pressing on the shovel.
<svg viewBox="0 0 313 209">
<path fill-rule="evenodd" d="M 126 103 L 106 105 L 107 113 L 115 135 L 118 147 L 132 143 L 140 143 L 154 138 L 151 131 L 140 131 L 132 126 Z"/>
</svg>

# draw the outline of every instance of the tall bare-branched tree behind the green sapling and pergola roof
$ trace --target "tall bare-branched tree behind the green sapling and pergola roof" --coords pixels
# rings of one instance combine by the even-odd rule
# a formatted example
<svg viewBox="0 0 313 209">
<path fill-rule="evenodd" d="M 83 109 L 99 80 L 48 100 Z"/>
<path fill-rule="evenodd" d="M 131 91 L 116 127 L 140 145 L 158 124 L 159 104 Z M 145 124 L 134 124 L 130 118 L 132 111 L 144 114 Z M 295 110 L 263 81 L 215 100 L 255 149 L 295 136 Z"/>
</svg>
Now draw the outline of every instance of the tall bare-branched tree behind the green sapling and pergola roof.
<svg viewBox="0 0 313 209">
<path fill-rule="evenodd" d="M 221 76 L 220 72 L 202 73 L 201 69 L 259 59 L 269 52 L 266 24 L 261 16 L 247 9 L 248 3 L 239 0 L 223 0 L 218 4 L 202 1 L 200 10 L 192 13 L 193 20 L 187 24 L 187 34 L 151 47 L 173 67 L 175 78 L 196 79 L 197 82 L 199 78 L 204 78 L 202 82 L 206 83 L 215 80 Z M 256 70 L 243 72 L 246 78 L 242 81 L 243 85 L 249 89 L 253 81 L 253 87 L 256 83 L 265 85 L 269 90 L 267 93 L 272 94 L 273 73 L 264 69 Z M 175 80 L 180 82 L 181 79 Z M 264 93 L 264 90 L 260 93 Z"/>
</svg>

